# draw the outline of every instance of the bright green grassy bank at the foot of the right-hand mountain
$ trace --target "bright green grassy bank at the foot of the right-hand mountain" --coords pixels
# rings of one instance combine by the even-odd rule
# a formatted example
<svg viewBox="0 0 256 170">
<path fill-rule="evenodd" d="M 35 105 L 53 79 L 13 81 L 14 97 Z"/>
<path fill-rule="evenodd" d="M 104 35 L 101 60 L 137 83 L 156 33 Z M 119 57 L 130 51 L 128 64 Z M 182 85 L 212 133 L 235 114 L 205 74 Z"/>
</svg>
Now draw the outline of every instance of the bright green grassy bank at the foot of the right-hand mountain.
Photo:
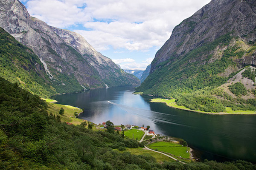
<svg viewBox="0 0 256 170">
<path fill-rule="evenodd" d="M 194 110 L 191 110 L 189 108 L 186 108 L 185 106 L 177 105 L 176 102 L 175 102 L 175 99 L 160 99 L 160 98 L 156 98 L 156 99 L 151 99 L 150 102 L 166 103 L 167 106 L 172 107 L 172 108 L 181 109 L 181 110 L 185 110 L 185 111 L 192 111 L 192 112 L 197 112 L 197 113 L 204 113 L 204 114 L 216 114 L 216 115 L 231 115 L 231 114 L 248 114 L 248 115 L 252 115 L 252 114 L 256 114 L 256 111 L 233 111 L 229 107 L 226 107 L 226 111 L 225 112 L 219 112 L 219 113 L 205 112 L 205 111 L 200 111 L 200 110 L 194 111 Z"/>
</svg>

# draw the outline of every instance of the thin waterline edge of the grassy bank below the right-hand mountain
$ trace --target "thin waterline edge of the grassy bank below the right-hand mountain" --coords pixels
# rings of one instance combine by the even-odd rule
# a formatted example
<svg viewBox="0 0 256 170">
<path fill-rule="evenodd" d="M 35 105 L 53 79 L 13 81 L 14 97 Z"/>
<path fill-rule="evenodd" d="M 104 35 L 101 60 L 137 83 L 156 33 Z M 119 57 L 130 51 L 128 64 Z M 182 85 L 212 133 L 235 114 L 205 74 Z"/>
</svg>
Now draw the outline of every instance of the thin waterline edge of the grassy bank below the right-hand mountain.
<svg viewBox="0 0 256 170">
<path fill-rule="evenodd" d="M 163 100 L 166 100 L 166 99 L 163 99 Z M 150 99 L 150 102 L 165 103 L 167 106 L 169 106 L 171 108 L 180 109 L 180 110 L 184 110 L 184 111 L 191 111 L 191 112 L 196 112 L 196 113 L 211 114 L 211 115 L 256 115 L 256 111 L 254 111 L 255 113 L 226 113 L 226 112 L 214 113 L 214 112 L 194 111 L 189 108 L 178 108 L 178 107 L 175 107 L 172 105 L 168 105 L 167 101 L 152 101 L 152 99 Z"/>
</svg>

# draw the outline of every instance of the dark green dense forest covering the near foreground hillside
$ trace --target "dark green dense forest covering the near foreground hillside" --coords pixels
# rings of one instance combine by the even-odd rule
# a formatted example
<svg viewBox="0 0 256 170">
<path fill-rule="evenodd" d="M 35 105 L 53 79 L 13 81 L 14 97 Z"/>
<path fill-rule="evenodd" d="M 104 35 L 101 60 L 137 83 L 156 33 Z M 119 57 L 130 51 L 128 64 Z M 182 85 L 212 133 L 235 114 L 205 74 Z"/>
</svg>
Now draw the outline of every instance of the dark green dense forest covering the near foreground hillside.
<svg viewBox="0 0 256 170">
<path fill-rule="evenodd" d="M 47 104 L 0 78 L 0 169 L 3 170 L 256 170 L 246 161 L 158 163 L 149 155 L 119 152 L 143 147 L 113 130 L 67 125 Z"/>
</svg>

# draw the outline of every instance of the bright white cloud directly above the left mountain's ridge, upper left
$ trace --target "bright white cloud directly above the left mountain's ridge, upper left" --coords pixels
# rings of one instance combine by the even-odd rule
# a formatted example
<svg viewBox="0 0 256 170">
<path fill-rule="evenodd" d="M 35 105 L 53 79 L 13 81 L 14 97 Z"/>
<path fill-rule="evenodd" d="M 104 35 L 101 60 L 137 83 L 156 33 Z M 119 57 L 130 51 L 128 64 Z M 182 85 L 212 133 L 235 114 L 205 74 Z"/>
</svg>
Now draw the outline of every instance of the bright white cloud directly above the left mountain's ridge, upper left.
<svg viewBox="0 0 256 170">
<path fill-rule="evenodd" d="M 83 5 L 81 0 L 28 0 L 26 3 L 30 15 L 61 28 L 92 20 L 84 8 L 79 8 Z"/>
</svg>

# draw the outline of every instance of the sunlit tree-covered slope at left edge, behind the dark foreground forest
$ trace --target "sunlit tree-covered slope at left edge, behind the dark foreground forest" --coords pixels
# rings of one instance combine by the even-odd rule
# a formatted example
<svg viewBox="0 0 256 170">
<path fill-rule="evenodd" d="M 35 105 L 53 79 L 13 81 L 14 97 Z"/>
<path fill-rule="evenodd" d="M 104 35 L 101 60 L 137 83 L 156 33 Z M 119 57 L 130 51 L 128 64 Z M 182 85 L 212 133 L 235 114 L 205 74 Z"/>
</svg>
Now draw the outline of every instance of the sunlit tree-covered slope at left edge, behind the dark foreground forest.
<svg viewBox="0 0 256 170">
<path fill-rule="evenodd" d="M 0 28 L 0 77 L 38 96 L 56 94 L 44 66 L 33 51 Z"/>
</svg>

